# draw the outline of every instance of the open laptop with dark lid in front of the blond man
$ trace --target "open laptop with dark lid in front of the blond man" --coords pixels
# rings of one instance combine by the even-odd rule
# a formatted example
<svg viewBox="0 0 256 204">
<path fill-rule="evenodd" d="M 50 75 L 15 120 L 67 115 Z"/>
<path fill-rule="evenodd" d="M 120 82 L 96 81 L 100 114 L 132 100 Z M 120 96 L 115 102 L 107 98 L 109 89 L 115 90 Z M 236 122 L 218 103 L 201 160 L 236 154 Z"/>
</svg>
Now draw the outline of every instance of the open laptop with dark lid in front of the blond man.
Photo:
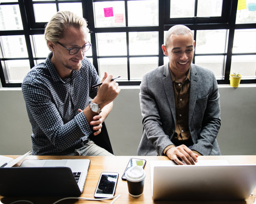
<svg viewBox="0 0 256 204">
<path fill-rule="evenodd" d="M 79 196 L 89 159 L 24 160 L 20 167 L 0 168 L 2 196 Z"/>
</svg>

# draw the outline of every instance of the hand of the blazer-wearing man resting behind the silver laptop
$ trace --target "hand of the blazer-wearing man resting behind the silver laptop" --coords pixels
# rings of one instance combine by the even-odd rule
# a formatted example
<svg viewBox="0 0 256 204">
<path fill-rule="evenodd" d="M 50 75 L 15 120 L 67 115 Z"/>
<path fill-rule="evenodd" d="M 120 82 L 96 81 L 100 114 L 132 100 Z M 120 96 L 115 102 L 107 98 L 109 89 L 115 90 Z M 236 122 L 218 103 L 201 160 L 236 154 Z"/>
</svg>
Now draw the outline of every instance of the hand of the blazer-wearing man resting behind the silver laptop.
<svg viewBox="0 0 256 204">
<path fill-rule="evenodd" d="M 195 164 L 197 162 L 197 157 L 198 155 L 195 154 L 191 149 L 189 149 L 186 145 L 182 144 L 177 147 L 172 147 L 169 148 L 166 152 L 165 155 L 170 159 L 175 161 L 179 165 L 184 165 L 185 164 L 190 165 L 190 164 Z M 180 161 L 180 159 L 183 161 Z"/>
</svg>

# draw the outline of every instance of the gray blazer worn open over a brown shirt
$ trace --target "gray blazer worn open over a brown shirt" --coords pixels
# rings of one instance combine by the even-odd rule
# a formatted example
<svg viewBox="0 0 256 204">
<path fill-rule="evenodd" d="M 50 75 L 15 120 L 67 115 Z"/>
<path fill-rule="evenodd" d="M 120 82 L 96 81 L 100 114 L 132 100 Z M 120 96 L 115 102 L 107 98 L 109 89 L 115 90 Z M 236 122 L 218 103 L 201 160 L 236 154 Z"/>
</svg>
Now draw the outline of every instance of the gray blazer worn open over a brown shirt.
<svg viewBox="0 0 256 204">
<path fill-rule="evenodd" d="M 143 135 L 138 155 L 163 155 L 175 133 L 175 99 L 168 63 L 143 75 L 140 85 Z M 221 155 L 216 141 L 220 129 L 218 85 L 212 71 L 191 64 L 188 123 L 194 145 L 202 155 Z"/>
</svg>

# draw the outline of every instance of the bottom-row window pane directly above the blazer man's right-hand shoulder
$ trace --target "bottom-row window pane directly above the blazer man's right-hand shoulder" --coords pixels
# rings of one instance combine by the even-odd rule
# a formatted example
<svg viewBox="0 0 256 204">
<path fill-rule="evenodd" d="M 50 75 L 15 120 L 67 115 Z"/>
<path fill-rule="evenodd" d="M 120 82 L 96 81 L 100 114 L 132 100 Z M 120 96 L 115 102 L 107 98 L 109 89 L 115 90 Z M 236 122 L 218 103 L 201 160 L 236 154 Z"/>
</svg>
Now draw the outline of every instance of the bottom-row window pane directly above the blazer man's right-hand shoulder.
<svg viewBox="0 0 256 204">
<path fill-rule="evenodd" d="M 222 78 L 224 56 L 196 56 L 195 64 L 208 68 L 215 73 L 216 78 Z"/>
</svg>

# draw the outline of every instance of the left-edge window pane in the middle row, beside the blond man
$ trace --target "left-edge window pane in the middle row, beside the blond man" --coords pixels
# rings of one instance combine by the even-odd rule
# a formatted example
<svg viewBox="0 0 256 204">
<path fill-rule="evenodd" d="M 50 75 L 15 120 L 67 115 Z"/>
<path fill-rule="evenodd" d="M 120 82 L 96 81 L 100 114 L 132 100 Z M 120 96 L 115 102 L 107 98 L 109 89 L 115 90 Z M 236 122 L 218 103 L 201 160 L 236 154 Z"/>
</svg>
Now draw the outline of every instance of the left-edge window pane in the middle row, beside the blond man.
<svg viewBox="0 0 256 204">
<path fill-rule="evenodd" d="M 23 35 L 1 36 L 0 40 L 5 58 L 28 57 L 26 41 Z"/>
</svg>

